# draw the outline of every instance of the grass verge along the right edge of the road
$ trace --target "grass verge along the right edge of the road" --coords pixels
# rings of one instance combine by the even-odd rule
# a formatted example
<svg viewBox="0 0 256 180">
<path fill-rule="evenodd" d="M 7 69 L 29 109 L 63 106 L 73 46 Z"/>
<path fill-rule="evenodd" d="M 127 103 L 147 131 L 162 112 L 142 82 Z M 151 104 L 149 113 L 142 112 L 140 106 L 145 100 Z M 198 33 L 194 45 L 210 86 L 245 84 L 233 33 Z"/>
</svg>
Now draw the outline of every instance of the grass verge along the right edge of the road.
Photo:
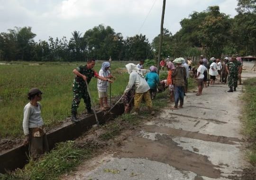
<svg viewBox="0 0 256 180">
<path fill-rule="evenodd" d="M 250 162 L 256 165 L 256 78 L 249 78 L 243 83 L 246 87 L 243 95 L 243 101 L 246 104 L 243 113 L 244 132 L 253 142 L 247 155 Z"/>
</svg>

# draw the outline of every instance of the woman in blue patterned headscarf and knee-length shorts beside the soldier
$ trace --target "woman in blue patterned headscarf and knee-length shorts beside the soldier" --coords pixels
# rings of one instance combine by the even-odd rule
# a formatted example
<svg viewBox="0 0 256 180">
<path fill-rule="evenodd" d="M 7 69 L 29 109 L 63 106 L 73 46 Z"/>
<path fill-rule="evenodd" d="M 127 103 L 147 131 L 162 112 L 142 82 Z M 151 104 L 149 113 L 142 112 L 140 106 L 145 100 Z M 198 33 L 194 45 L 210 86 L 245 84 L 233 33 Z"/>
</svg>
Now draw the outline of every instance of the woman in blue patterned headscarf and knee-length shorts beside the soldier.
<svg viewBox="0 0 256 180">
<path fill-rule="evenodd" d="M 110 63 L 109 62 L 103 62 L 101 65 L 101 69 L 99 71 L 99 76 L 105 77 L 105 78 L 111 78 L 112 75 L 110 74 Z M 98 87 L 98 92 L 99 92 L 99 103 L 101 106 L 101 110 L 106 110 L 106 108 L 109 108 L 108 106 L 108 94 L 107 94 L 107 89 L 108 89 L 108 81 L 103 81 L 101 79 L 98 79 L 97 87 Z M 104 101 L 104 105 L 103 105 Z"/>
</svg>

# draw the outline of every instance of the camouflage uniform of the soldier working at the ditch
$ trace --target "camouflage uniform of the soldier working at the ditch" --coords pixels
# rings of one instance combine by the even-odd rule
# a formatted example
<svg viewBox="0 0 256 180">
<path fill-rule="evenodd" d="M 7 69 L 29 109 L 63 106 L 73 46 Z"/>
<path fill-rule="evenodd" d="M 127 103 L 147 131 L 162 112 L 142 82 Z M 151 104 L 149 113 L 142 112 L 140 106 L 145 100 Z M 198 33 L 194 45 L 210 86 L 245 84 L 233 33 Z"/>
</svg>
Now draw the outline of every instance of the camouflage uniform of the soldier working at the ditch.
<svg viewBox="0 0 256 180">
<path fill-rule="evenodd" d="M 82 75 L 87 77 L 87 83 L 89 84 L 91 81 L 91 77 L 94 77 L 94 70 L 87 69 L 87 65 L 79 66 L 76 68 Z M 80 100 L 83 98 L 83 102 L 86 105 L 87 110 L 91 110 L 91 99 L 87 91 L 87 86 L 82 77 L 75 76 L 73 80 L 73 102 L 71 107 L 71 112 L 77 112 L 77 108 L 79 106 Z"/>
</svg>

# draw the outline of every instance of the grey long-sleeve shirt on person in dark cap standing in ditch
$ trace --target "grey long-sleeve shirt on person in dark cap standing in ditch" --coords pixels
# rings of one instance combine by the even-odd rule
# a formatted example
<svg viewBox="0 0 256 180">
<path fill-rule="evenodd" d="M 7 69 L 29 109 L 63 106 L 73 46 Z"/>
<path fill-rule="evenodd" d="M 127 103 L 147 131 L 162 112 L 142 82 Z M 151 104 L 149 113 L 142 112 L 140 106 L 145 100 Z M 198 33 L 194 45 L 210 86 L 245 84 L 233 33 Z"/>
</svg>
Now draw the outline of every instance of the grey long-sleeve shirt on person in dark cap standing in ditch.
<svg viewBox="0 0 256 180">
<path fill-rule="evenodd" d="M 41 117 L 41 104 L 37 102 L 37 106 L 33 106 L 31 103 L 27 103 L 24 107 L 23 117 L 23 131 L 24 135 L 28 135 L 28 128 L 37 128 L 44 125 Z"/>
</svg>

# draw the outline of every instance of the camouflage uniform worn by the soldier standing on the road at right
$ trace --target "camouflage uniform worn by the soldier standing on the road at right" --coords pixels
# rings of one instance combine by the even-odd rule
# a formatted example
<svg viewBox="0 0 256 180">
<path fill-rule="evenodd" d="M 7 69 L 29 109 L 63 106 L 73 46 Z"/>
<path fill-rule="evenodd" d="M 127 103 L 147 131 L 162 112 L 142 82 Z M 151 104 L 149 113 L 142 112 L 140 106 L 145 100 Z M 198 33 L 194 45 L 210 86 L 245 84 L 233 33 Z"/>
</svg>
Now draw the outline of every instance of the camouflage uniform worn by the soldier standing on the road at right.
<svg viewBox="0 0 256 180">
<path fill-rule="evenodd" d="M 229 61 L 227 64 L 229 69 L 228 85 L 230 88 L 236 88 L 238 86 L 238 70 L 241 65 L 241 62 L 237 60 Z"/>
</svg>

